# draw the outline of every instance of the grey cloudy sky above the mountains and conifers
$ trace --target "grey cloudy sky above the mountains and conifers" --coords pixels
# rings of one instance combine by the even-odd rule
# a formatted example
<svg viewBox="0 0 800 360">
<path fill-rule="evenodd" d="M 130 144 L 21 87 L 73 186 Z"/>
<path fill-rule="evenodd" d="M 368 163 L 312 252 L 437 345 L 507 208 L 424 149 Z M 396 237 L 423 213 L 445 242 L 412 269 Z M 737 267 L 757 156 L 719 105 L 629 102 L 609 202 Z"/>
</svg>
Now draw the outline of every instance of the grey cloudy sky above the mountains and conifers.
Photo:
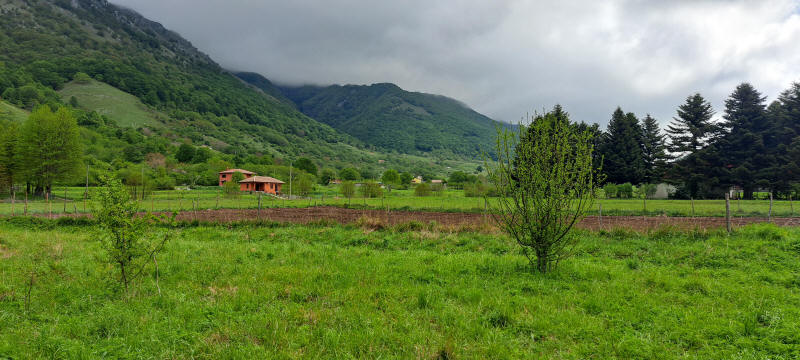
<svg viewBox="0 0 800 360">
<path fill-rule="evenodd" d="M 800 81 L 800 0 L 112 0 L 223 67 L 277 83 L 446 95 L 519 122 L 561 104 L 662 124 L 700 92 L 722 114 L 741 82 L 768 101 Z"/>
</svg>

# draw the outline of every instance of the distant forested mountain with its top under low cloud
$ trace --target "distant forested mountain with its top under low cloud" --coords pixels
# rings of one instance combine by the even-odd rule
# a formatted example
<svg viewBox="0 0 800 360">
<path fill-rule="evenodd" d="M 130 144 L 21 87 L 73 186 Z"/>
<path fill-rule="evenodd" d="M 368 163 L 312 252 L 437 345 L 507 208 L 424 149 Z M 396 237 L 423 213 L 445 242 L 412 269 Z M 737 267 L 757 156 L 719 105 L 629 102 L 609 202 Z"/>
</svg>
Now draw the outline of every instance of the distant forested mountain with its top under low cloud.
<svg viewBox="0 0 800 360">
<path fill-rule="evenodd" d="M 389 83 L 262 87 L 252 75 L 237 76 L 268 93 L 278 88 L 309 117 L 386 151 L 450 151 L 478 158 L 491 153 L 496 127 L 504 125 L 451 98 Z"/>
</svg>

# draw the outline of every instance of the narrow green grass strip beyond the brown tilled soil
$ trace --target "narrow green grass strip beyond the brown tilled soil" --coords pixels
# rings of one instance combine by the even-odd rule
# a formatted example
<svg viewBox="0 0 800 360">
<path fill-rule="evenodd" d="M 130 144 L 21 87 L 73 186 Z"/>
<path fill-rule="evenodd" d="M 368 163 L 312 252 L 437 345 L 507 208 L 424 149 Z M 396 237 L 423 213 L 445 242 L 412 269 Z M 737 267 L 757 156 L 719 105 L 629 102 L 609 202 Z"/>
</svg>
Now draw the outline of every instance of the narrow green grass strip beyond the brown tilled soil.
<svg viewBox="0 0 800 360">
<path fill-rule="evenodd" d="M 54 190 L 56 198 L 49 205 L 41 198 L 31 199 L 28 211 L 38 214 L 48 213 L 48 211 L 60 213 L 64 211 L 66 205 L 66 211 L 69 213 L 83 212 L 83 193 L 83 188 L 67 188 L 65 204 L 63 201 L 64 188 L 57 187 Z M 320 186 L 311 196 L 303 199 L 281 200 L 263 196 L 262 207 L 330 205 L 386 209 L 389 206 L 392 210 L 481 212 L 486 205 L 483 198 L 464 197 L 464 193 L 459 190 L 448 190 L 442 196 L 428 197 L 414 196 L 412 190 L 392 190 L 385 195 L 383 198 L 367 199 L 357 195 L 352 199 L 346 199 L 338 193 L 336 186 Z M 21 214 L 24 208 L 23 197 L 24 194 L 18 193 L 16 204 L 12 206 L 11 199 L 6 196 L 0 202 L 0 215 L 10 215 L 12 210 L 15 214 Z M 497 199 L 490 198 L 489 201 L 493 203 Z M 694 203 L 694 211 L 692 211 L 692 203 Z M 795 209 L 798 205 L 800 204 L 776 200 L 773 202 L 772 216 L 796 216 L 800 212 L 800 209 Z M 258 207 L 258 195 L 242 193 L 240 196 L 232 198 L 226 197 L 216 187 L 208 187 L 199 190 L 155 191 L 141 202 L 143 211 L 192 210 L 193 206 L 196 206 L 197 209 L 254 209 Z M 642 199 L 598 199 L 589 214 L 598 214 L 601 207 L 603 215 L 725 216 L 724 200 L 695 200 L 694 202 L 690 200 L 647 200 L 645 204 Z M 87 204 L 87 211 L 89 210 L 90 205 Z M 766 217 L 769 214 L 769 200 L 734 200 L 731 202 L 731 211 L 737 217 Z"/>
</svg>

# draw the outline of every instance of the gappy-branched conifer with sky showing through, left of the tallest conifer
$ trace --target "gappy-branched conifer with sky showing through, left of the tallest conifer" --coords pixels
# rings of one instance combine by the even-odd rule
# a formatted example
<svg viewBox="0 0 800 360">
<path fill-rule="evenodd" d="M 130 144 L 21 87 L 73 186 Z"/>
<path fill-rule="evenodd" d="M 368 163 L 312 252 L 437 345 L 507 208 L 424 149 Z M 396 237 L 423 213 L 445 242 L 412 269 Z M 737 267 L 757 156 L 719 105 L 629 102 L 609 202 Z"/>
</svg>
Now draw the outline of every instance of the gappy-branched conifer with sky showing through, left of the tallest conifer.
<svg viewBox="0 0 800 360">
<path fill-rule="evenodd" d="M 711 104 L 696 93 L 678 107 L 678 116 L 666 130 L 670 139 L 667 149 L 679 157 L 671 169 L 672 178 L 682 182 L 687 195 L 693 198 L 700 194 L 701 183 L 708 183 L 703 171 L 708 164 L 700 151 L 717 131 L 711 123 L 713 115 Z"/>
</svg>

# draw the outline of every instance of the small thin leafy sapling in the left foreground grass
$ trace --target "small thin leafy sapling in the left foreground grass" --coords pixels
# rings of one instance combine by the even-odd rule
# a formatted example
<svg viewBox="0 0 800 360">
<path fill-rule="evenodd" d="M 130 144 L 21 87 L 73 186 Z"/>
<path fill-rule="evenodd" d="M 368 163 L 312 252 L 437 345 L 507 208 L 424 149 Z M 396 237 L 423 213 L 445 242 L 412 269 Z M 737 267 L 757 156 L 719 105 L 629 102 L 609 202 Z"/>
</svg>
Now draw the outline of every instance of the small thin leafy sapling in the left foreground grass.
<svg viewBox="0 0 800 360">
<path fill-rule="evenodd" d="M 119 270 L 119 281 L 128 291 L 129 284 L 142 274 L 150 258 L 164 248 L 170 232 L 154 236 L 152 221 L 167 221 L 171 218 L 137 216 L 138 204 L 125 190 L 122 183 L 113 177 L 101 178 L 97 189 L 93 215 L 102 229 L 101 242 L 108 261 Z"/>
</svg>

